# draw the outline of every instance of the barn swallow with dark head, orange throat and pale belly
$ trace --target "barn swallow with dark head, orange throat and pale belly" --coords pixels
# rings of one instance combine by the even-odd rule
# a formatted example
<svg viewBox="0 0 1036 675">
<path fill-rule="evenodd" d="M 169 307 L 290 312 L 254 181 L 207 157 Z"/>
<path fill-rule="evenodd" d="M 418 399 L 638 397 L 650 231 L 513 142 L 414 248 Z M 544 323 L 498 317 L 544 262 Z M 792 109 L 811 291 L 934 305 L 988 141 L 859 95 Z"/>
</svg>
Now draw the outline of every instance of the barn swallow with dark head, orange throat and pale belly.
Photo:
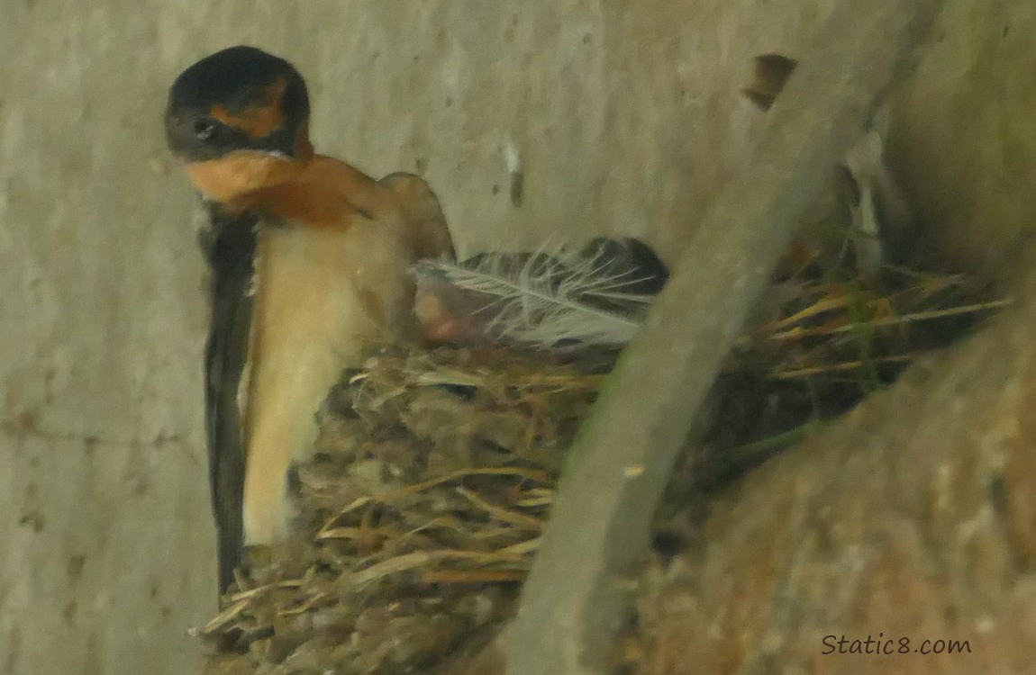
<svg viewBox="0 0 1036 675">
<path fill-rule="evenodd" d="M 424 180 L 374 180 L 316 154 L 309 118 L 299 72 L 251 47 L 198 61 L 169 92 L 169 147 L 211 216 L 204 366 L 221 590 L 243 547 L 288 534 L 291 469 L 342 371 L 418 337 L 407 268 L 453 257 Z"/>
</svg>

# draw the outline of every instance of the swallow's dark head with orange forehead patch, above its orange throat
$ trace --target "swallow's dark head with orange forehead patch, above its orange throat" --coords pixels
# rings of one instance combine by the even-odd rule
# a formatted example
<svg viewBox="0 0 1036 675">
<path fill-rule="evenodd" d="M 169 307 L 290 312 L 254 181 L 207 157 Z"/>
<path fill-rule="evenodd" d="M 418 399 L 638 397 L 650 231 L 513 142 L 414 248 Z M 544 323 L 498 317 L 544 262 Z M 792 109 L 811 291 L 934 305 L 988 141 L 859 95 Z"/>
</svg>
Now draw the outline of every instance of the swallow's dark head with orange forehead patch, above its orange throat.
<svg viewBox="0 0 1036 675">
<path fill-rule="evenodd" d="M 166 139 L 189 163 L 238 151 L 306 159 L 309 116 L 306 82 L 293 65 L 254 47 L 231 47 L 176 78 Z"/>
</svg>

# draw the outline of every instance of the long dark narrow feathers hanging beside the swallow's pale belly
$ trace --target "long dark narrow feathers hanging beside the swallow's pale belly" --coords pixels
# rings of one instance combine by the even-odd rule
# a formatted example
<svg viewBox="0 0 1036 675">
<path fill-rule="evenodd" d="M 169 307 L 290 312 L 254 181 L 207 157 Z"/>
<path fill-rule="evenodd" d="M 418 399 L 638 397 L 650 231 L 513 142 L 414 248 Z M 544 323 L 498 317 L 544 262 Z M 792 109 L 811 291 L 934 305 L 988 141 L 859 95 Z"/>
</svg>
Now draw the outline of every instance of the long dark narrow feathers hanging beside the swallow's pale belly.
<svg viewBox="0 0 1036 675">
<path fill-rule="evenodd" d="M 199 237 L 211 268 L 211 322 L 205 346 L 205 428 L 209 487 L 219 537 L 220 592 L 241 559 L 244 439 L 238 388 L 248 359 L 257 218 L 209 205 L 211 229 Z"/>
</svg>

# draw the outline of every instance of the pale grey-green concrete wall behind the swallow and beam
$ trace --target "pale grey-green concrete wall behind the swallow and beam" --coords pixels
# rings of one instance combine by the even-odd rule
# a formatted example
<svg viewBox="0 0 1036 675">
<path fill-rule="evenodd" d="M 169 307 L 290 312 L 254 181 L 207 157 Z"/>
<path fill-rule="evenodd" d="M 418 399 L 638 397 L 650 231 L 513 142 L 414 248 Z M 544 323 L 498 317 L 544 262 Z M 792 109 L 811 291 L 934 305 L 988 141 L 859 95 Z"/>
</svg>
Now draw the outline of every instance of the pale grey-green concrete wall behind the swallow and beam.
<svg viewBox="0 0 1036 675">
<path fill-rule="evenodd" d="M 375 175 L 423 172 L 467 252 L 629 232 L 672 259 L 762 119 L 738 93 L 751 57 L 797 56 L 831 4 L 5 0 L 0 674 L 191 672 L 186 629 L 214 609 L 204 277 L 194 198 L 161 134 L 182 67 L 237 42 L 293 60 L 317 146 Z M 980 33 L 1013 45 L 1005 58 L 1029 55 L 1031 0 L 951 4 L 944 36 Z M 969 54 L 972 77 L 1010 80 L 1002 61 Z M 952 74 L 936 81 L 938 95 L 956 91 Z M 1004 84 L 1009 101 L 1030 100 L 1032 81 Z M 960 108 L 1012 128 L 1032 111 L 981 106 Z M 927 124 L 911 118 L 900 133 L 904 147 L 923 141 L 930 164 L 944 146 L 918 131 Z M 1003 150 L 1027 170 L 1029 128 L 1029 145 Z M 523 158 L 520 207 L 508 147 Z M 939 178 L 915 192 L 945 208 L 939 195 L 969 176 Z"/>
</svg>

